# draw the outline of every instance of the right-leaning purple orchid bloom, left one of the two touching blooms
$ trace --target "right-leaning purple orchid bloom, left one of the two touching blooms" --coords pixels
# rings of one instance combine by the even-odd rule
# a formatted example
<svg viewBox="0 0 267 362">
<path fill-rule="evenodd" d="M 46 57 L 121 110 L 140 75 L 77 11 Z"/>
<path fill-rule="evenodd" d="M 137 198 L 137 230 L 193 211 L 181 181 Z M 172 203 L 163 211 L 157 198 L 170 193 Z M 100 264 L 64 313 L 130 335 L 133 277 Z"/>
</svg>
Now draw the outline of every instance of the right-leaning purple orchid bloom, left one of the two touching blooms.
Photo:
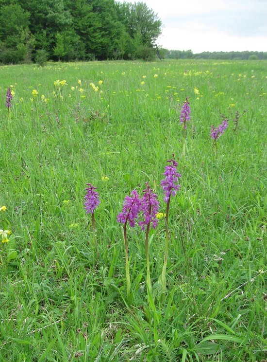
<svg viewBox="0 0 267 362">
<path fill-rule="evenodd" d="M 117 216 L 117 222 L 125 224 L 129 221 L 130 226 L 134 227 L 135 220 L 140 212 L 141 200 L 139 199 L 137 191 L 131 192 L 132 197 L 126 196 L 123 202 L 122 212 Z"/>
</svg>

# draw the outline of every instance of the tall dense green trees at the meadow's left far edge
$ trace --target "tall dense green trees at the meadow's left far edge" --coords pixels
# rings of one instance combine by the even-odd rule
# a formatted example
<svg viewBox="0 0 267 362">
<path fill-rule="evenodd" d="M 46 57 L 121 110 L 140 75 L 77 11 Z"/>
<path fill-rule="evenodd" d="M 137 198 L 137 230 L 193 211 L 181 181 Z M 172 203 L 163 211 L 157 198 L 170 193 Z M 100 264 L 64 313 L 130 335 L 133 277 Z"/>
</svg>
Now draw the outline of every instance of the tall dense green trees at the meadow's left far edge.
<svg viewBox="0 0 267 362">
<path fill-rule="evenodd" d="M 0 63 L 149 60 L 161 26 L 143 2 L 0 0 Z"/>
</svg>

